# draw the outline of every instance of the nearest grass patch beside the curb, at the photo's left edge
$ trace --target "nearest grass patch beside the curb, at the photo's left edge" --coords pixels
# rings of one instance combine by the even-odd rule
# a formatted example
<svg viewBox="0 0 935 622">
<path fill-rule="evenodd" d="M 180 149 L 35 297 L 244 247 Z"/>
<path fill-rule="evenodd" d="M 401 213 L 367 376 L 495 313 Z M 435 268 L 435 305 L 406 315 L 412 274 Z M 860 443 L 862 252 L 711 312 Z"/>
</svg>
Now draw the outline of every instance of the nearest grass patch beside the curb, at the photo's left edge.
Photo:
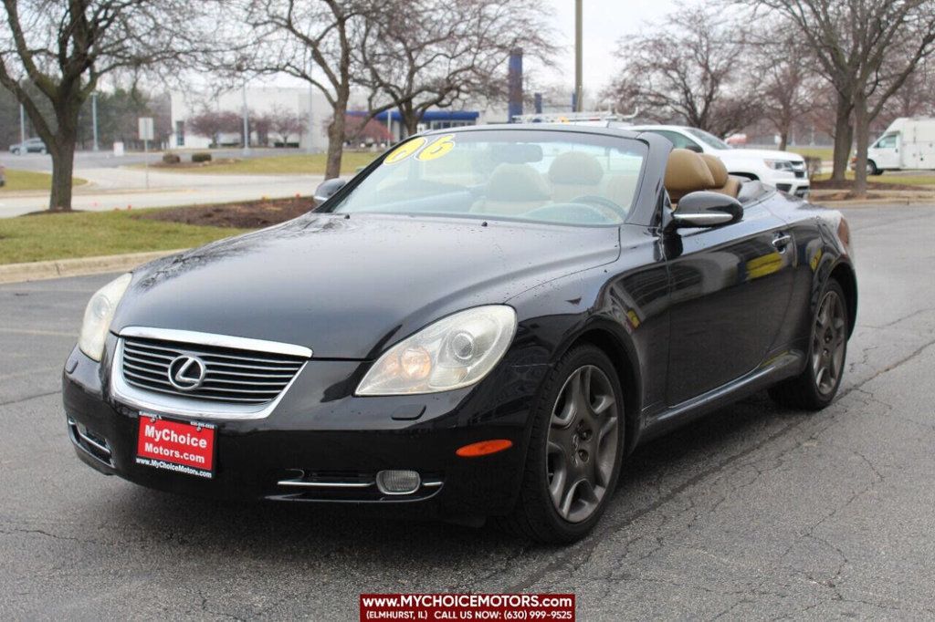
<svg viewBox="0 0 935 622">
<path fill-rule="evenodd" d="M 246 231 L 132 218 L 146 211 L 150 210 L 0 219 L 0 263 L 196 247 Z"/>
</svg>

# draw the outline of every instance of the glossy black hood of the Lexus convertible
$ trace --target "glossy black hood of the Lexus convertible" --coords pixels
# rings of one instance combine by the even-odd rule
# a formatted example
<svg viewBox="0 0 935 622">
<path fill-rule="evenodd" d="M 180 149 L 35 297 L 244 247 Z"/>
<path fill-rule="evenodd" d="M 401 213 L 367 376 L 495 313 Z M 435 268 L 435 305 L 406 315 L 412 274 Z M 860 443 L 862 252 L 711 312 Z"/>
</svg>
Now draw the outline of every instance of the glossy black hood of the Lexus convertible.
<svg viewBox="0 0 935 622">
<path fill-rule="evenodd" d="M 612 262 L 616 227 L 309 214 L 137 269 L 111 330 L 210 332 L 366 360 L 431 321 Z"/>
</svg>

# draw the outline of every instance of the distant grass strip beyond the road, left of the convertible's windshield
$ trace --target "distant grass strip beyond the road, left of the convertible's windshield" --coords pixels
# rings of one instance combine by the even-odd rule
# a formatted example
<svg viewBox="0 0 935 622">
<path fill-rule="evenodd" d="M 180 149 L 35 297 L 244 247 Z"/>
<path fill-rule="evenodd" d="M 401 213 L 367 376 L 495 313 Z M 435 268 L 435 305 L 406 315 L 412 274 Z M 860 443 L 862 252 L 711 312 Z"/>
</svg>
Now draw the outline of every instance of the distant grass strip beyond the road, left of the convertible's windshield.
<svg viewBox="0 0 935 622">
<path fill-rule="evenodd" d="M 352 175 L 361 166 L 371 163 L 380 155 L 380 151 L 345 151 L 341 158 L 341 174 Z M 190 160 L 188 154 L 181 154 L 183 161 Z M 281 156 L 248 158 L 233 162 L 206 163 L 192 166 L 183 162 L 183 166 L 157 165 L 154 170 L 182 173 L 215 173 L 230 175 L 324 175 L 324 153 L 291 153 Z"/>
</svg>

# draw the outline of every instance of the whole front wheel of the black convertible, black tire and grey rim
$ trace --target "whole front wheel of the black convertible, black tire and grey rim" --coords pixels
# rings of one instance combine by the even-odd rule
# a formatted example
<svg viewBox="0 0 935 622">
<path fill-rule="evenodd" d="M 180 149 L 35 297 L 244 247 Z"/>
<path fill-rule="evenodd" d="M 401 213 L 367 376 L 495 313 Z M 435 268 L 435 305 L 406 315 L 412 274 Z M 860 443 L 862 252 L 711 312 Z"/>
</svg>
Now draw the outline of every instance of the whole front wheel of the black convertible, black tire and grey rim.
<svg viewBox="0 0 935 622">
<path fill-rule="evenodd" d="M 624 456 L 623 390 L 595 346 L 569 350 L 540 389 L 516 507 L 501 527 L 549 544 L 582 539 L 617 486 Z"/>
</svg>

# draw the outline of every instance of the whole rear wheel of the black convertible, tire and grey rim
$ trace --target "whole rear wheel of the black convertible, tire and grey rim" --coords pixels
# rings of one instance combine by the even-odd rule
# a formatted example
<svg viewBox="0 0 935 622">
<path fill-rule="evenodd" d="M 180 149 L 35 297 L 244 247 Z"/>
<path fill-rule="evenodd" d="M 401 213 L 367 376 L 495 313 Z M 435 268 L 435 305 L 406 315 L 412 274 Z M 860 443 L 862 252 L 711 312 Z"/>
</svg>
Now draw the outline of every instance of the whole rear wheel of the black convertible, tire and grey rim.
<svg viewBox="0 0 935 622">
<path fill-rule="evenodd" d="M 819 299 L 809 340 L 809 356 L 801 374 L 770 389 L 777 403 L 804 410 L 821 410 L 834 401 L 841 387 L 850 318 L 841 284 L 828 280 Z"/>
</svg>

